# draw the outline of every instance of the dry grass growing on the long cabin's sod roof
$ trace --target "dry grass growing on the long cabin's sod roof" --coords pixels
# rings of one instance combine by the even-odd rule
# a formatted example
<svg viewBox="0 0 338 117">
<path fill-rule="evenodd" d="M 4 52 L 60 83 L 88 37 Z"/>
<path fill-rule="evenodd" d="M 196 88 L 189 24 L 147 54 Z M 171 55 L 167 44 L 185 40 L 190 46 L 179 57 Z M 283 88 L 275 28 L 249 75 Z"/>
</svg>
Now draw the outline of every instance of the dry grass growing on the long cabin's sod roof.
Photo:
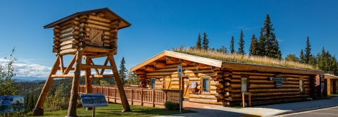
<svg viewBox="0 0 338 117">
<path fill-rule="evenodd" d="M 281 66 L 287 68 L 301 68 L 308 70 L 318 70 L 311 65 L 294 62 L 294 61 L 284 61 L 276 58 L 269 58 L 267 56 L 247 56 L 242 54 L 223 54 L 222 52 L 216 51 L 205 51 L 203 49 L 190 49 L 190 48 L 173 48 L 171 51 L 179 52 L 182 54 L 190 54 L 194 56 L 201 56 L 205 58 L 212 58 L 220 61 L 234 61 L 241 63 L 256 63 L 261 65 L 268 66 Z"/>
</svg>

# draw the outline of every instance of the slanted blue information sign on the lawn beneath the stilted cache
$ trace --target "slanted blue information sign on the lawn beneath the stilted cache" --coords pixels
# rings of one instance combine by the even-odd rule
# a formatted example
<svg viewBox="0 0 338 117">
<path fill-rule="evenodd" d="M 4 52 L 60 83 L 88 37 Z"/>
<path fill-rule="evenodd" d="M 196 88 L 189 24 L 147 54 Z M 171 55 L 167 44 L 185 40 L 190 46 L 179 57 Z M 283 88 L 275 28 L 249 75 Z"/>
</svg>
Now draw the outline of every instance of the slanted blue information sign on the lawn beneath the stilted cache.
<svg viewBox="0 0 338 117">
<path fill-rule="evenodd" d="M 104 94 L 80 94 L 83 107 L 108 106 Z"/>
</svg>

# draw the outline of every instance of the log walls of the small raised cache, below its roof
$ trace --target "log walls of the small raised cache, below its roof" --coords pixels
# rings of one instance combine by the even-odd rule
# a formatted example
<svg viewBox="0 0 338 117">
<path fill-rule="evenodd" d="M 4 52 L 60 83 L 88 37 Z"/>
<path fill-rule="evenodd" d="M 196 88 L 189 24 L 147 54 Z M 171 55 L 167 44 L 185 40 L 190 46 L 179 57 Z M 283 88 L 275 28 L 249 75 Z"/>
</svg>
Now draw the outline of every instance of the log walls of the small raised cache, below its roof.
<svg viewBox="0 0 338 117">
<path fill-rule="evenodd" d="M 96 13 L 102 14 L 102 13 Z M 82 15 L 54 26 L 53 52 L 75 54 L 79 47 L 94 46 L 113 49 L 117 53 L 120 20 L 108 20 L 104 15 Z"/>
</svg>

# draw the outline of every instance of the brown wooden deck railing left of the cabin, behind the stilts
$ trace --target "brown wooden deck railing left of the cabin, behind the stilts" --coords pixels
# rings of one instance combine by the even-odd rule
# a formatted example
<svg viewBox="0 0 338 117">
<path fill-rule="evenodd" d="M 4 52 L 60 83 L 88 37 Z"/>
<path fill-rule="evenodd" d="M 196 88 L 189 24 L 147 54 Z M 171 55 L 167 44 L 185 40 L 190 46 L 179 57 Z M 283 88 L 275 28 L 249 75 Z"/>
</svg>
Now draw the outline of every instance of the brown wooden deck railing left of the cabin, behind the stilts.
<svg viewBox="0 0 338 117">
<path fill-rule="evenodd" d="M 125 95 L 132 105 L 164 107 L 165 101 L 179 103 L 178 90 L 157 90 L 137 88 L 137 85 L 124 85 Z M 85 93 L 86 86 L 80 85 L 79 93 Z M 113 103 L 121 103 L 118 87 L 113 85 L 93 85 L 92 93 L 104 93 L 106 100 Z M 181 99 L 182 101 L 183 99 Z"/>
</svg>

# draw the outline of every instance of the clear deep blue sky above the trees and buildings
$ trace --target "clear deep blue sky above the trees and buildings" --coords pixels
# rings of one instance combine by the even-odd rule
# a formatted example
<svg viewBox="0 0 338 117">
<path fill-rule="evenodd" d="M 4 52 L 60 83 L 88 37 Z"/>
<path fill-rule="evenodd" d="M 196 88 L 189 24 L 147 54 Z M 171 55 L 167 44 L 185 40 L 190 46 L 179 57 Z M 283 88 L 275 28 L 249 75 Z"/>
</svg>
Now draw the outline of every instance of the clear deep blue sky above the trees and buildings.
<svg viewBox="0 0 338 117">
<path fill-rule="evenodd" d="M 238 48 L 239 32 L 244 32 L 244 49 L 249 53 L 250 39 L 259 36 L 269 14 L 283 58 L 299 56 L 306 37 L 312 54 L 323 46 L 338 54 L 338 1 L 4 1 L 0 0 L 0 62 L 11 54 L 18 58 L 18 76 L 45 79 L 55 61 L 52 53 L 53 31 L 43 26 L 75 12 L 108 7 L 132 23 L 119 31 L 119 66 L 125 56 L 126 68 L 166 49 L 194 46 L 199 32 L 206 32 L 209 47 L 230 46 L 234 36 Z M 68 64 L 73 56 L 65 56 Z M 94 60 L 103 64 L 104 60 Z"/>
</svg>

